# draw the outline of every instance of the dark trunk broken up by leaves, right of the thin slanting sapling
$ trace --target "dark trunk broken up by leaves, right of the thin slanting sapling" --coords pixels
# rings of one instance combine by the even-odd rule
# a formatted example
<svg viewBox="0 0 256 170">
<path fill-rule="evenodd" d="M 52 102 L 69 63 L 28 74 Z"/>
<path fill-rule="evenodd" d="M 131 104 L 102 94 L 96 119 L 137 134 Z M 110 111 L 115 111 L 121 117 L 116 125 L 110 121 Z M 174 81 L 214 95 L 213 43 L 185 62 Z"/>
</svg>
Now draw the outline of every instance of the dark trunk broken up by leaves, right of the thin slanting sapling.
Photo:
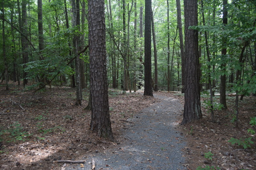
<svg viewBox="0 0 256 170">
<path fill-rule="evenodd" d="M 228 10 L 227 10 L 227 4 L 228 0 L 223 0 L 223 17 L 222 17 L 222 23 L 224 26 L 228 24 Z M 226 38 L 222 38 L 222 46 L 225 46 L 226 44 Z M 222 48 L 221 50 L 222 58 L 225 58 L 227 55 L 227 48 Z M 225 60 L 225 59 L 224 59 Z M 226 71 L 226 63 L 221 63 L 221 69 L 222 72 L 225 73 Z M 223 105 L 225 109 L 227 109 L 227 103 L 226 103 L 226 74 L 220 76 L 220 104 Z"/>
</svg>

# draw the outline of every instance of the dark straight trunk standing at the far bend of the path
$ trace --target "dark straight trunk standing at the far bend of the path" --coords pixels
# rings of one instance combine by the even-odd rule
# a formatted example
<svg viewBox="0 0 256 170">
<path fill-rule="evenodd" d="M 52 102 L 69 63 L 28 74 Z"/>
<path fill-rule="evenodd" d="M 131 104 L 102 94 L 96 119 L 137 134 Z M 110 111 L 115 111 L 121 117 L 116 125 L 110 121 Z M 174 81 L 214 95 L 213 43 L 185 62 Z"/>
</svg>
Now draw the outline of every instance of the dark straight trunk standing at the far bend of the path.
<svg viewBox="0 0 256 170">
<path fill-rule="evenodd" d="M 151 0 L 145 0 L 145 41 L 144 41 L 144 72 L 145 86 L 144 96 L 153 96 L 153 88 L 151 83 Z"/>
</svg>

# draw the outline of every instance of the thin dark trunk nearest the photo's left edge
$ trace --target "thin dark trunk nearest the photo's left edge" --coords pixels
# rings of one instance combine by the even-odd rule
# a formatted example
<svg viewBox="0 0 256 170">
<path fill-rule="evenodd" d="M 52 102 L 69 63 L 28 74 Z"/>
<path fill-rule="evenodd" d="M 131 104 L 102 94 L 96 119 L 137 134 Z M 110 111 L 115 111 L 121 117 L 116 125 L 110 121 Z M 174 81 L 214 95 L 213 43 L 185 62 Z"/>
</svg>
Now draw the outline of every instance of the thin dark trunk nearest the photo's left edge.
<svg viewBox="0 0 256 170">
<path fill-rule="evenodd" d="M 7 64 L 7 59 L 5 55 L 5 30 L 4 30 L 4 1 L 2 2 L 2 17 L 3 17 L 3 26 L 2 26 L 2 31 L 3 31 L 3 58 L 4 58 L 4 70 L 5 70 L 5 90 L 9 90 L 9 83 L 8 83 L 8 64 Z"/>
</svg>

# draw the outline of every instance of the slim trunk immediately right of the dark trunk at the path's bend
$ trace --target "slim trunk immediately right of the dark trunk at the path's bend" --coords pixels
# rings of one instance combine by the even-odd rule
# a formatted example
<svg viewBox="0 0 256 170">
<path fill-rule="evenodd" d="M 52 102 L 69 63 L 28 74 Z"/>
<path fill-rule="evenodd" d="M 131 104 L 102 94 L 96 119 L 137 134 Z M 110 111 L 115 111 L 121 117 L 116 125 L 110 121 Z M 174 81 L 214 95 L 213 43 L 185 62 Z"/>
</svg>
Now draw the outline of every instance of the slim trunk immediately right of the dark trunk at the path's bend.
<svg viewBox="0 0 256 170">
<path fill-rule="evenodd" d="M 151 9 L 151 24 L 152 24 L 152 37 L 153 37 L 153 46 L 154 46 L 154 61 L 155 61 L 155 87 L 154 91 L 158 91 L 158 76 L 157 76 L 157 50 L 156 50 L 156 33 L 155 33 L 155 24 L 154 24 L 154 15 L 153 10 Z"/>
</svg>

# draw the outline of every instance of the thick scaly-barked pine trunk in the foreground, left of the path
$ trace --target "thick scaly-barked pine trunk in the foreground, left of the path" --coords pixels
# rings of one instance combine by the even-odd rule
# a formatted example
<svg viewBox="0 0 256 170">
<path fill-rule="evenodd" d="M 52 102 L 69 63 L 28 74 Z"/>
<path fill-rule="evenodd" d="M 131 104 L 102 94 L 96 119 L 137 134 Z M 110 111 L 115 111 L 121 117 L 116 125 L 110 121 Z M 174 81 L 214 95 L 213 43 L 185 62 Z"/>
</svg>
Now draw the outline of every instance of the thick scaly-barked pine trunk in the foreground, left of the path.
<svg viewBox="0 0 256 170">
<path fill-rule="evenodd" d="M 89 0 L 89 49 L 92 93 L 91 130 L 113 139 L 108 105 L 104 0 Z"/>
</svg>

